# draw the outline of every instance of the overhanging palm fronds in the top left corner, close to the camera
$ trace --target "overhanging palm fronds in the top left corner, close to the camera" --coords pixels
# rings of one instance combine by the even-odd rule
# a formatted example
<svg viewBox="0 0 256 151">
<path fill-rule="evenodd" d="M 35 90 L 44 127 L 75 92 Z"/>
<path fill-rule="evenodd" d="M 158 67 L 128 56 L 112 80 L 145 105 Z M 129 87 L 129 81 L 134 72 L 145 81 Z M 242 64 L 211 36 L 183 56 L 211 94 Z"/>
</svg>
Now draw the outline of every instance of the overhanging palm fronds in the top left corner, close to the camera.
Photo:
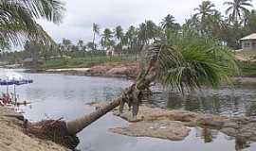
<svg viewBox="0 0 256 151">
<path fill-rule="evenodd" d="M 50 38 L 37 19 L 62 21 L 64 4 L 59 0 L 1 0 L 0 41 L 17 44 L 24 39 L 48 42 Z"/>
</svg>

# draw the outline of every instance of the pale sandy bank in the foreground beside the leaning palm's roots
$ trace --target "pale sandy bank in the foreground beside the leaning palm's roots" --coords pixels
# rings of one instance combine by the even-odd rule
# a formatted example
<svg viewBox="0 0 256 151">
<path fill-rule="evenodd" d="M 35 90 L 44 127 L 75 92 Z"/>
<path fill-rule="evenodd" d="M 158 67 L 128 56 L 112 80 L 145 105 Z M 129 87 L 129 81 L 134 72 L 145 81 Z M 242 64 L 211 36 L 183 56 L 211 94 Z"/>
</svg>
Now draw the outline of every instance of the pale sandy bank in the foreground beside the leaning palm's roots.
<svg viewBox="0 0 256 151">
<path fill-rule="evenodd" d="M 50 141 L 27 136 L 23 129 L 23 115 L 6 107 L 0 107 L 1 151 L 69 151 Z"/>
</svg>

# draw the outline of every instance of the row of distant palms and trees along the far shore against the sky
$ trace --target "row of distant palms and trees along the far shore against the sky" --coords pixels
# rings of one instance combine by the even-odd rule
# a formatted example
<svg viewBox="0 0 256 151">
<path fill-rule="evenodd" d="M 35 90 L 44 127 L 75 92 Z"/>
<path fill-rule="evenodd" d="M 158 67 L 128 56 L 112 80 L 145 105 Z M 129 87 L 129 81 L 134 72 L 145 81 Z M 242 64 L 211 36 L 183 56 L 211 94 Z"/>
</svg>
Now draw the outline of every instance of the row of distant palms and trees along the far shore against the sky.
<svg viewBox="0 0 256 151">
<path fill-rule="evenodd" d="M 115 28 L 101 28 L 98 24 L 92 26 L 92 41 L 79 40 L 72 43 L 64 38 L 61 43 L 47 44 L 45 42 L 27 41 L 24 52 L 2 53 L 1 57 L 23 56 L 31 58 L 48 58 L 52 56 L 81 57 L 82 55 L 104 54 L 105 50 L 114 48 L 124 54 L 138 53 L 145 43 L 167 39 L 168 33 L 182 34 L 184 30 L 193 30 L 200 35 L 208 36 L 227 44 L 232 49 L 239 49 L 239 40 L 247 34 L 256 32 L 256 10 L 251 0 L 233 0 L 223 4 L 227 7 L 225 14 L 215 8 L 210 1 L 203 1 L 194 14 L 180 25 L 175 22 L 174 16 L 168 14 L 159 24 L 151 20 L 124 29 L 121 25 Z M 99 42 L 97 40 L 100 40 Z M 9 54 L 9 55 L 7 55 Z M 23 54 L 23 55 L 21 55 Z"/>
</svg>

